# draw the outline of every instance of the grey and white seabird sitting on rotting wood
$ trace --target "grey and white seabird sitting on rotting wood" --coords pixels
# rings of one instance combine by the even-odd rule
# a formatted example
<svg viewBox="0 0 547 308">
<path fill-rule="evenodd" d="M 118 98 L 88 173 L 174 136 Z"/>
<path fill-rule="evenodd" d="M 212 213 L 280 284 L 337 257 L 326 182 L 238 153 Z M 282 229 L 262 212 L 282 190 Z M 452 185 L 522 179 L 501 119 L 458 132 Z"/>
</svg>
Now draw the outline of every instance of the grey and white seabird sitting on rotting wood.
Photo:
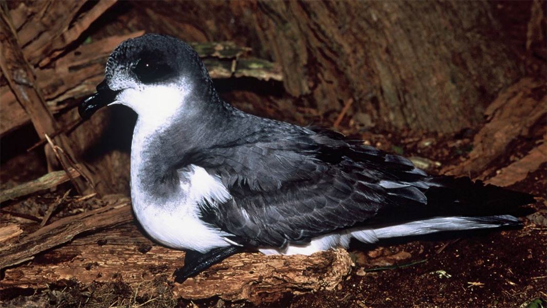
<svg viewBox="0 0 547 308">
<path fill-rule="evenodd" d="M 243 249 L 312 254 L 380 239 L 520 225 L 531 195 L 469 178 L 430 176 L 340 133 L 244 113 L 217 94 L 186 43 L 125 40 L 83 118 L 123 104 L 138 115 L 131 146 L 135 216 L 156 241 L 186 251 L 182 282 Z"/>
</svg>

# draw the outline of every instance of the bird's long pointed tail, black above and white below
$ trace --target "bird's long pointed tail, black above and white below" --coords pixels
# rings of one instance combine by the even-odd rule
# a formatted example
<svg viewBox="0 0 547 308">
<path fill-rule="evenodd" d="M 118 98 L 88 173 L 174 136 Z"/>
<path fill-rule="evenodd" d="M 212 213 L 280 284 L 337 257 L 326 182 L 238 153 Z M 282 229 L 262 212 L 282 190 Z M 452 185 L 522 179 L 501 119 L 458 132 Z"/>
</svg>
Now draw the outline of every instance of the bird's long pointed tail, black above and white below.
<svg viewBox="0 0 547 308">
<path fill-rule="evenodd" d="M 510 214 L 519 206 L 535 202 L 532 195 L 469 178 L 433 177 L 427 186 L 426 206 L 399 208 L 398 216 L 405 221 L 354 229 L 351 235 L 373 243 L 389 237 L 520 226 L 521 221 Z"/>
</svg>

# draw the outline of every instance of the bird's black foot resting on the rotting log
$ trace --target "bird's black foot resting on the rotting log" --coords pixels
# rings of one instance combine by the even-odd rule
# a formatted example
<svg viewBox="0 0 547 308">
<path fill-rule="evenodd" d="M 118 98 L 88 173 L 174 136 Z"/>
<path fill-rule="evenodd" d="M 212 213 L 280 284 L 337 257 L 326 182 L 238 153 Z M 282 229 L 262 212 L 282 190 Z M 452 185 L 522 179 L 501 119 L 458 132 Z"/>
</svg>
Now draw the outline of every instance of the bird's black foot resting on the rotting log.
<svg viewBox="0 0 547 308">
<path fill-rule="evenodd" d="M 237 246 L 215 248 L 207 253 L 188 250 L 184 256 L 184 266 L 173 272 L 174 281 L 183 283 L 189 277 L 199 274 L 211 265 L 217 264 L 240 251 L 241 247 Z"/>
</svg>

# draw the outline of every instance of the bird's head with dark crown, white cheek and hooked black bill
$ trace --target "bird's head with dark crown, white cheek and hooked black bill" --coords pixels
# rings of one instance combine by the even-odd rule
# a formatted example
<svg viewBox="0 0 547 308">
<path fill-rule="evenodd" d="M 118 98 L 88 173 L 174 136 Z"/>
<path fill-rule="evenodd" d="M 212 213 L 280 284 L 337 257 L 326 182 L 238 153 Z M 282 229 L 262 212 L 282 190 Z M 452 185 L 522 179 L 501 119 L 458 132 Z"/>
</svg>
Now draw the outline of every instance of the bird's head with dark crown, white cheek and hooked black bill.
<svg viewBox="0 0 547 308">
<path fill-rule="evenodd" d="M 112 51 L 97 93 L 87 98 L 79 111 L 86 118 L 100 107 L 120 103 L 132 108 L 139 118 L 160 123 L 185 112 L 184 108 L 190 111 L 195 106 L 185 104 L 196 95 L 216 96 L 196 52 L 176 38 L 145 34 L 125 40 Z"/>
</svg>

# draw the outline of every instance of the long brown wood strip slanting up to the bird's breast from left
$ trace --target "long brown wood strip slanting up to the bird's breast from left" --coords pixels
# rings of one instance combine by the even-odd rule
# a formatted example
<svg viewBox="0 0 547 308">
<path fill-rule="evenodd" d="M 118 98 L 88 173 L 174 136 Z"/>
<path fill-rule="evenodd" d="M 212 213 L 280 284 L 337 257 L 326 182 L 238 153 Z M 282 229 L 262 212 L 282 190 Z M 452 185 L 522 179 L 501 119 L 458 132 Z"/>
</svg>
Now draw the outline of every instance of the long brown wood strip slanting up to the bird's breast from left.
<svg viewBox="0 0 547 308">
<path fill-rule="evenodd" d="M 131 208 L 126 200 L 120 204 L 61 218 L 26 236 L 16 245 L 0 248 L 0 269 L 30 260 L 40 252 L 71 241 L 78 234 L 110 228 L 132 219 Z"/>
</svg>

